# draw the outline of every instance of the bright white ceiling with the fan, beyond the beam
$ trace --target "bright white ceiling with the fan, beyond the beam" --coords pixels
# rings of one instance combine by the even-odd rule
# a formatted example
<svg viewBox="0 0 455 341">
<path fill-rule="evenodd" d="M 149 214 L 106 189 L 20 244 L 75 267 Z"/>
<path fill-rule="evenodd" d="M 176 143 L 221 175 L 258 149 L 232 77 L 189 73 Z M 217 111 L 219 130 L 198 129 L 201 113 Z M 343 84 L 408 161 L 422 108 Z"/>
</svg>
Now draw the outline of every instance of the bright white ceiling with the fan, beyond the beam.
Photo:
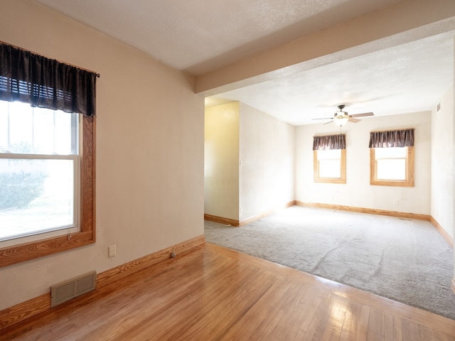
<svg viewBox="0 0 455 341">
<path fill-rule="evenodd" d="M 454 79 L 454 32 L 439 34 L 305 72 L 225 92 L 294 125 L 321 123 L 338 104 L 375 116 L 432 110 Z"/>
</svg>

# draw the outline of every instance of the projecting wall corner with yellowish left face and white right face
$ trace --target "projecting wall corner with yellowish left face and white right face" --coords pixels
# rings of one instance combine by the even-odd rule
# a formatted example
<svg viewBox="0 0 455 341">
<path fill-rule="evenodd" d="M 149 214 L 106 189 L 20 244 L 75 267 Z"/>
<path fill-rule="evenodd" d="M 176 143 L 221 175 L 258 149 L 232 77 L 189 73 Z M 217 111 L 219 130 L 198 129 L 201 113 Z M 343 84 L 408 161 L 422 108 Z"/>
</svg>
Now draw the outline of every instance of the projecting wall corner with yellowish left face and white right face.
<svg viewBox="0 0 455 341">
<path fill-rule="evenodd" d="M 205 214 L 241 222 L 293 201 L 294 131 L 239 102 L 205 109 Z"/>
</svg>

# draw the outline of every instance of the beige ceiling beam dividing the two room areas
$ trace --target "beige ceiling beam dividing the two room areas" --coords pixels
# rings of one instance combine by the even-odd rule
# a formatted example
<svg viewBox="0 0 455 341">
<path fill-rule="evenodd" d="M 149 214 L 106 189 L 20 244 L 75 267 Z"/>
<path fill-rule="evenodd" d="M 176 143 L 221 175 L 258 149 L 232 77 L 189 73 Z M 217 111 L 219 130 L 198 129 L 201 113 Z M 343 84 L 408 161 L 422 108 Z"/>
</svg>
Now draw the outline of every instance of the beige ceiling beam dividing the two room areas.
<svg viewBox="0 0 455 341">
<path fill-rule="evenodd" d="M 401 1 L 200 75 L 196 93 L 211 96 L 284 77 L 450 31 L 454 23 L 453 0 Z"/>
</svg>

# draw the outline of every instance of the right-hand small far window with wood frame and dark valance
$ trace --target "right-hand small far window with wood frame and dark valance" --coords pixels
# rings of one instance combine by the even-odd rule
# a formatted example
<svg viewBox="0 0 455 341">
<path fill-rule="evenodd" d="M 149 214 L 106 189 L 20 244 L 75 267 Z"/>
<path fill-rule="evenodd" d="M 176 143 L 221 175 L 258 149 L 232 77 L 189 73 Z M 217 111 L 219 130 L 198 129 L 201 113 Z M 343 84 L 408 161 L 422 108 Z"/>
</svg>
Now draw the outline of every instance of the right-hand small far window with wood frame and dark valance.
<svg viewBox="0 0 455 341">
<path fill-rule="evenodd" d="M 414 129 L 371 133 L 370 185 L 414 186 Z"/>
</svg>

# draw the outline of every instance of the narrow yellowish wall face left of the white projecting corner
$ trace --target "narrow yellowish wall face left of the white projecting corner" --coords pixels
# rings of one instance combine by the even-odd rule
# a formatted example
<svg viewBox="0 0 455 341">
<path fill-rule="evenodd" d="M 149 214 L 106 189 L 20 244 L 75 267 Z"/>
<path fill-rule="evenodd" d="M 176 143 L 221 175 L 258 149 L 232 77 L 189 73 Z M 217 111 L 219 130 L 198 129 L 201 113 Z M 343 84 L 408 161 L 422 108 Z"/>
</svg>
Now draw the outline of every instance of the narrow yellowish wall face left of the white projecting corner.
<svg viewBox="0 0 455 341">
<path fill-rule="evenodd" d="M 205 109 L 204 212 L 239 220 L 240 104 Z"/>
</svg>

